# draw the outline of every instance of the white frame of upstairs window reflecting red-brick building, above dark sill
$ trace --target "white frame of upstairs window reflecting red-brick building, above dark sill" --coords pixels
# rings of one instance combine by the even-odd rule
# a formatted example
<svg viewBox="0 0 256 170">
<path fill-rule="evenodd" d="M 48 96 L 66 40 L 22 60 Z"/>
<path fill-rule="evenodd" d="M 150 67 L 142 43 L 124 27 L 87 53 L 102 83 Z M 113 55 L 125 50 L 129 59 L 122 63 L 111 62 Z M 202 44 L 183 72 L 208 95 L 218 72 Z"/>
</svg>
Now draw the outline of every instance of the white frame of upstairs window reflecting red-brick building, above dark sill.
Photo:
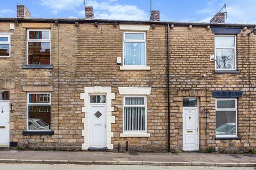
<svg viewBox="0 0 256 170">
<path fill-rule="evenodd" d="M 49 31 L 49 39 L 29 39 L 29 31 Z M 41 64 L 41 65 L 51 65 L 51 30 L 50 29 L 27 29 L 27 65 L 35 65 L 28 64 L 28 44 L 29 43 L 50 43 L 50 64 Z M 36 64 L 37 65 L 37 64 Z"/>
</svg>

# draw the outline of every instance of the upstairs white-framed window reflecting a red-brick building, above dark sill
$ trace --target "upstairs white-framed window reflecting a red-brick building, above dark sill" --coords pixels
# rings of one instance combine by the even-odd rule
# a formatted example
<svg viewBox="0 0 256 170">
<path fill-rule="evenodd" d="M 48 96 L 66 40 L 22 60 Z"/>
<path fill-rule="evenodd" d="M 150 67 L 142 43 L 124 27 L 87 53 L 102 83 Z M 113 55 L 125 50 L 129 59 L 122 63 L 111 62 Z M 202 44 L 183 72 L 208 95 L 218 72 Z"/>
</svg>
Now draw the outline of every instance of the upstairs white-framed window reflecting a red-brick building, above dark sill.
<svg viewBox="0 0 256 170">
<path fill-rule="evenodd" d="M 27 65 L 51 64 L 51 30 L 27 30 Z"/>
</svg>

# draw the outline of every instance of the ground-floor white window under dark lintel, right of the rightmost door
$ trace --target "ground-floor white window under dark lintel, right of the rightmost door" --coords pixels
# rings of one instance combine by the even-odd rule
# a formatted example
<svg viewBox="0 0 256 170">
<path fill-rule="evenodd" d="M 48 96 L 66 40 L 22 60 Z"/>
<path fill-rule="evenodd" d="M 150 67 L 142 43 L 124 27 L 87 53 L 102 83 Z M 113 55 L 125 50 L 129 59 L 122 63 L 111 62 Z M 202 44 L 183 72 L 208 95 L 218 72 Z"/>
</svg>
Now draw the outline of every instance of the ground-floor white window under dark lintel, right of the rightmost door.
<svg viewBox="0 0 256 170">
<path fill-rule="evenodd" d="M 216 99 L 216 137 L 237 137 L 237 100 Z"/>
</svg>

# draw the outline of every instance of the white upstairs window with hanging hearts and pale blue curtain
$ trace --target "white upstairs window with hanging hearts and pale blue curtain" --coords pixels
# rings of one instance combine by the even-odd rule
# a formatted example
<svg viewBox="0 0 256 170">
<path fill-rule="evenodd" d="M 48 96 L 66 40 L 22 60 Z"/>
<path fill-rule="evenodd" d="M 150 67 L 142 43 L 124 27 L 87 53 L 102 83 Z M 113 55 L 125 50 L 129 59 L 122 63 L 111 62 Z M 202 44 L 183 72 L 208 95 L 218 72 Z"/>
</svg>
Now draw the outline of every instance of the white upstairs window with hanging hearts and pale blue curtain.
<svg viewBox="0 0 256 170">
<path fill-rule="evenodd" d="M 123 65 L 146 66 L 146 32 L 123 33 Z"/>
</svg>

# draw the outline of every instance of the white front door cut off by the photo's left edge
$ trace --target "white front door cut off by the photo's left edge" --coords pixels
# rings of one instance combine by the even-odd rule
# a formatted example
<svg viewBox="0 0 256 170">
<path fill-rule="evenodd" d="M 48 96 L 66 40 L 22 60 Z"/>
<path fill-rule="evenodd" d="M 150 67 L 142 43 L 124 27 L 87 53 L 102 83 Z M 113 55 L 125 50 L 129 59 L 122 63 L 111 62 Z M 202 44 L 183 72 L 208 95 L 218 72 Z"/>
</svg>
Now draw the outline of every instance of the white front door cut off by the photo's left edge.
<svg viewBox="0 0 256 170">
<path fill-rule="evenodd" d="M 0 147 L 10 145 L 10 103 L 0 101 Z"/>
</svg>

